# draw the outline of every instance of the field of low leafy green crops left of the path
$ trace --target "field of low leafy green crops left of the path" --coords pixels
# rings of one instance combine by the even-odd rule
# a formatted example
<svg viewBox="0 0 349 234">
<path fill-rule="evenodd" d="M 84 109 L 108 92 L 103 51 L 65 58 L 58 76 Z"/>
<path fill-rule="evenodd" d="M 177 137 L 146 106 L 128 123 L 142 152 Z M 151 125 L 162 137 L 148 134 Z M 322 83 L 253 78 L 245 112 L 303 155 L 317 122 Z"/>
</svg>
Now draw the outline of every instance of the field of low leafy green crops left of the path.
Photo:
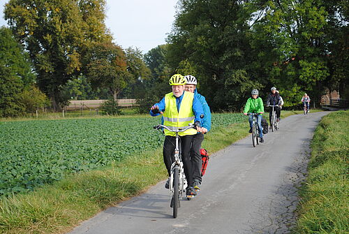
<svg viewBox="0 0 349 234">
<path fill-rule="evenodd" d="M 212 129 L 247 121 L 212 115 Z M 66 173 L 91 170 L 160 147 L 159 117 L 0 122 L 0 196 L 29 191 Z"/>
</svg>

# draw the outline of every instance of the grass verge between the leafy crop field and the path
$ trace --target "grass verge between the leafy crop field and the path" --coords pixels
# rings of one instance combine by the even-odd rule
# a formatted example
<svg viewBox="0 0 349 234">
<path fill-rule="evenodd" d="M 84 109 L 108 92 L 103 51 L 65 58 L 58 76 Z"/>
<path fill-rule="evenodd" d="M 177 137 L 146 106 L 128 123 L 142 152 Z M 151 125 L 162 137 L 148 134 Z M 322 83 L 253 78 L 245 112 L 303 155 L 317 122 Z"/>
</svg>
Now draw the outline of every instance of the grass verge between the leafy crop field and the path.
<svg viewBox="0 0 349 234">
<path fill-rule="evenodd" d="M 282 117 L 297 114 L 282 111 Z M 301 111 L 299 111 L 301 113 Z M 202 147 L 214 153 L 248 135 L 248 122 L 216 127 Z M 164 180 L 161 149 L 128 156 L 107 168 L 69 175 L 60 182 L 0 200 L 0 233 L 66 233 L 97 212 Z"/>
</svg>

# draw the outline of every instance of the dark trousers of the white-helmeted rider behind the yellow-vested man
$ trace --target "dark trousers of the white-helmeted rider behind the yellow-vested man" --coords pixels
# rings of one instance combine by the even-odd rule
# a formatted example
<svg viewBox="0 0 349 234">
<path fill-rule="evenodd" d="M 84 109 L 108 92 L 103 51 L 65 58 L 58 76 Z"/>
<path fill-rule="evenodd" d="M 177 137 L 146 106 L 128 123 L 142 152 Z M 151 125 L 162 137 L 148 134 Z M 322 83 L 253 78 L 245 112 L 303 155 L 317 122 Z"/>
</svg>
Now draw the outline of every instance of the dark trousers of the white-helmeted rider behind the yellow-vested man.
<svg viewBox="0 0 349 234">
<path fill-rule="evenodd" d="M 198 133 L 193 137 L 193 142 L 191 143 L 191 166 L 193 167 L 193 180 L 198 180 L 201 184 L 201 143 L 204 140 L 204 134 Z"/>
</svg>

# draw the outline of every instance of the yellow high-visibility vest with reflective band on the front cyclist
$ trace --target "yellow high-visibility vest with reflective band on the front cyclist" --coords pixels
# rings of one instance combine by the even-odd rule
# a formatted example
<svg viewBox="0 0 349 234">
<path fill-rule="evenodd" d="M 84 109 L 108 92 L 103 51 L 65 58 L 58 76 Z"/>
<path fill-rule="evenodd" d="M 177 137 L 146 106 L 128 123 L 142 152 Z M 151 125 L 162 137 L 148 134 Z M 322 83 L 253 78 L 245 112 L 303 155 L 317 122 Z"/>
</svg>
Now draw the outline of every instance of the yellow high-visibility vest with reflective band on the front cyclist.
<svg viewBox="0 0 349 234">
<path fill-rule="evenodd" d="M 169 129 L 179 129 L 188 124 L 194 124 L 193 113 L 193 101 L 194 94 L 191 92 L 184 92 L 183 99 L 181 99 L 181 107 L 179 112 L 177 110 L 176 97 L 173 93 L 165 95 L 165 112 L 163 112 L 163 125 Z M 176 133 L 163 129 L 166 136 L 176 136 Z M 195 129 L 188 129 L 184 132 L 180 132 L 179 136 L 195 135 L 197 131 Z"/>
</svg>

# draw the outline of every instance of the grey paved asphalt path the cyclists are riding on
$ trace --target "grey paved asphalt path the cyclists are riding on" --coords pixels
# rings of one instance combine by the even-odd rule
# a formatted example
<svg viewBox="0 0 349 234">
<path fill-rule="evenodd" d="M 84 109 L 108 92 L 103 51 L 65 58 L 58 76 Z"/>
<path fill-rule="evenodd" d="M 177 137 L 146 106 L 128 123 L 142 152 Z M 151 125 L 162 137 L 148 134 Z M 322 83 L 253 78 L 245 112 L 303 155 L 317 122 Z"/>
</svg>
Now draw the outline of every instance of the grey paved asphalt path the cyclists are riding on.
<svg viewBox="0 0 349 234">
<path fill-rule="evenodd" d="M 309 142 L 327 113 L 292 115 L 255 148 L 248 136 L 211 155 L 198 196 L 181 200 L 177 219 L 162 181 L 70 234 L 288 233 L 295 224 L 297 186 L 306 173 Z"/>
</svg>

